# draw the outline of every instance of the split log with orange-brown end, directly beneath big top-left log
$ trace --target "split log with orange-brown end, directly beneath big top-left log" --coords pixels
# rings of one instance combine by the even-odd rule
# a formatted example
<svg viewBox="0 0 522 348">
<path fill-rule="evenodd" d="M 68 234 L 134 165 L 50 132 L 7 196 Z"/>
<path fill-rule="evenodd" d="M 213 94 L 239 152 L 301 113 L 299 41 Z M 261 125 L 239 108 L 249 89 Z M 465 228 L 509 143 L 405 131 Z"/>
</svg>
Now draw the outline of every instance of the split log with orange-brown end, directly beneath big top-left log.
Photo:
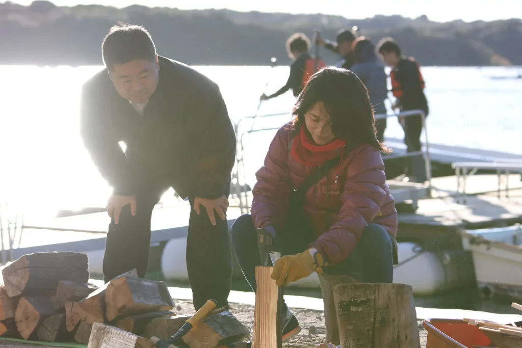
<svg viewBox="0 0 522 348">
<path fill-rule="evenodd" d="M 15 311 L 16 328 L 24 339 L 35 339 L 40 324 L 53 314 L 56 310 L 51 297 L 22 296 Z"/>
</svg>

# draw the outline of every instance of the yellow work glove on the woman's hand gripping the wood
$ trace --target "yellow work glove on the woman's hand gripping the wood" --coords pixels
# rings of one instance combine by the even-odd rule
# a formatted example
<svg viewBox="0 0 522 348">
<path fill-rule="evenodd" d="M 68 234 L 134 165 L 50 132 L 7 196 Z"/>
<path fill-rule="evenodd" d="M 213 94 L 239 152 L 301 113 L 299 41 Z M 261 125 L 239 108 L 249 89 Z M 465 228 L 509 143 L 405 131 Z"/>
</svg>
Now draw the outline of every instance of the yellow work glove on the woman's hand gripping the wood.
<svg viewBox="0 0 522 348">
<path fill-rule="evenodd" d="M 288 285 L 312 272 L 323 273 L 321 267 L 326 266 L 323 255 L 315 248 L 309 248 L 297 255 L 282 256 L 276 261 L 272 271 L 272 279 L 278 286 Z"/>
</svg>

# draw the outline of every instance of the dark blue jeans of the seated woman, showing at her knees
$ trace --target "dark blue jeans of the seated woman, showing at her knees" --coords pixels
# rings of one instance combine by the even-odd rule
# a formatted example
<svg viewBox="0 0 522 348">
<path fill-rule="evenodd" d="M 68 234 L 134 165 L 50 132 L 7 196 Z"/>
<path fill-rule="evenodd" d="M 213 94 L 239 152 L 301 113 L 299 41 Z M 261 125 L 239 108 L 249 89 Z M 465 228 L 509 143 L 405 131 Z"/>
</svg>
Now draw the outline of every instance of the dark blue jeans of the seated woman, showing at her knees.
<svg viewBox="0 0 522 348">
<path fill-rule="evenodd" d="M 254 270 L 255 266 L 261 266 L 261 260 L 252 216 L 239 217 L 232 225 L 231 235 L 235 256 L 255 292 Z M 271 265 L 271 261 L 268 262 Z M 337 265 L 324 267 L 323 271 L 333 275 L 347 274 L 363 283 L 392 283 L 393 252 L 389 234 L 380 225 L 367 225 L 352 253 Z"/>
</svg>

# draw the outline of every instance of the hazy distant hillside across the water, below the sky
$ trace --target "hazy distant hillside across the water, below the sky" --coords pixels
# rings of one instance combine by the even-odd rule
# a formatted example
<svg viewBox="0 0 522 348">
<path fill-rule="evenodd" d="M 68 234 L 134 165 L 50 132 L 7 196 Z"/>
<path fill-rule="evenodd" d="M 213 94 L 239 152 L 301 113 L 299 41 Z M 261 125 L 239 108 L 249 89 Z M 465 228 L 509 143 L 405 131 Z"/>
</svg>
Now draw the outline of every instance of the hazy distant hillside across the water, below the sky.
<svg viewBox="0 0 522 348">
<path fill-rule="evenodd" d="M 240 13 L 99 5 L 56 7 L 0 4 L 0 64 L 101 64 L 100 44 L 117 21 L 143 25 L 158 53 L 193 65 L 266 65 L 270 57 L 290 62 L 284 43 L 290 34 L 321 30 L 335 39 L 339 28 L 356 25 L 377 42 L 391 36 L 422 65 L 522 65 L 522 20 L 437 23 L 422 16 L 340 16 Z M 338 57 L 321 51 L 328 63 Z"/>
</svg>

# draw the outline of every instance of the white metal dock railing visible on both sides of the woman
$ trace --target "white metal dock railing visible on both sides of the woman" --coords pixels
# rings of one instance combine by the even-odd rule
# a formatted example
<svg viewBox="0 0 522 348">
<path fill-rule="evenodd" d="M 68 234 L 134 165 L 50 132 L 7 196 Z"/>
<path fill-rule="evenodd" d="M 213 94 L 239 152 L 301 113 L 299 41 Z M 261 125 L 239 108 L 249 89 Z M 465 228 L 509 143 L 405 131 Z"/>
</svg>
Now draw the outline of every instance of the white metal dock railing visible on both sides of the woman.
<svg viewBox="0 0 522 348">
<path fill-rule="evenodd" d="M 235 170 L 232 172 L 232 181 L 235 181 L 234 185 L 234 193 L 236 195 L 236 199 L 239 200 L 238 208 L 241 209 L 241 213 L 249 213 L 250 212 L 250 204 L 248 202 L 248 194 L 249 191 L 246 189 L 246 175 L 245 175 L 245 164 L 244 164 L 244 151 L 245 151 L 245 143 L 244 143 L 244 137 L 248 134 L 256 133 L 259 131 L 270 131 L 270 130 L 278 130 L 279 127 L 267 127 L 267 128 L 258 128 L 254 129 L 254 124 L 256 119 L 258 118 L 264 118 L 264 117 L 277 117 L 277 116 L 290 116 L 290 113 L 276 113 L 276 114 L 267 114 L 267 115 L 257 115 L 257 116 L 246 116 L 241 118 L 238 123 L 235 124 L 235 132 L 236 132 L 236 139 L 238 141 L 238 145 L 236 147 L 236 163 L 235 163 Z M 426 170 L 426 181 L 428 182 L 428 192 L 431 196 L 431 161 L 430 161 L 430 153 L 429 153 L 429 142 L 428 142 L 428 130 L 426 129 L 426 115 L 422 110 L 411 110 L 411 111 L 404 111 L 400 112 L 398 114 L 376 114 L 375 119 L 385 119 L 389 117 L 411 117 L 411 116 L 421 116 L 421 122 L 422 122 L 422 129 L 424 133 L 425 143 L 424 143 L 424 149 L 421 149 L 420 151 L 411 151 L 406 152 L 405 154 L 400 155 L 389 155 L 388 158 L 407 158 L 407 157 L 414 157 L 418 155 L 422 155 L 424 159 L 424 165 Z M 252 125 L 250 126 L 250 129 L 246 131 L 242 131 L 240 133 L 240 126 L 241 123 L 246 120 L 252 120 Z M 241 174 L 240 174 L 241 172 Z M 243 185 L 240 184 L 240 178 L 243 181 Z"/>
</svg>

